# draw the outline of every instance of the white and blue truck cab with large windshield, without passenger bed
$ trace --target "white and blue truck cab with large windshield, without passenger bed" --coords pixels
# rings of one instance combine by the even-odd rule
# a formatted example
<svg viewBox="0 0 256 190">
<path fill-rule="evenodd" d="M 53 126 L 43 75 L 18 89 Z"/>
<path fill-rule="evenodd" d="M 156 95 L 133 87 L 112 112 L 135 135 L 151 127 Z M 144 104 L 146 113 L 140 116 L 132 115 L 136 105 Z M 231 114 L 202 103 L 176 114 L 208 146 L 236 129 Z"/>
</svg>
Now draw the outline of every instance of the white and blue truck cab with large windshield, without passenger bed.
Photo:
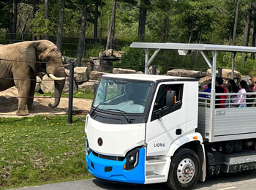
<svg viewBox="0 0 256 190">
<path fill-rule="evenodd" d="M 203 138 L 195 132 L 197 97 L 194 78 L 102 76 L 86 119 L 89 172 L 119 182 L 166 182 L 178 147 L 190 142 L 197 153 L 204 151 Z M 203 165 L 198 156 L 187 161 Z M 199 178 L 193 164 L 181 167 L 181 173 L 189 172 L 181 174 L 181 181 Z"/>
</svg>

